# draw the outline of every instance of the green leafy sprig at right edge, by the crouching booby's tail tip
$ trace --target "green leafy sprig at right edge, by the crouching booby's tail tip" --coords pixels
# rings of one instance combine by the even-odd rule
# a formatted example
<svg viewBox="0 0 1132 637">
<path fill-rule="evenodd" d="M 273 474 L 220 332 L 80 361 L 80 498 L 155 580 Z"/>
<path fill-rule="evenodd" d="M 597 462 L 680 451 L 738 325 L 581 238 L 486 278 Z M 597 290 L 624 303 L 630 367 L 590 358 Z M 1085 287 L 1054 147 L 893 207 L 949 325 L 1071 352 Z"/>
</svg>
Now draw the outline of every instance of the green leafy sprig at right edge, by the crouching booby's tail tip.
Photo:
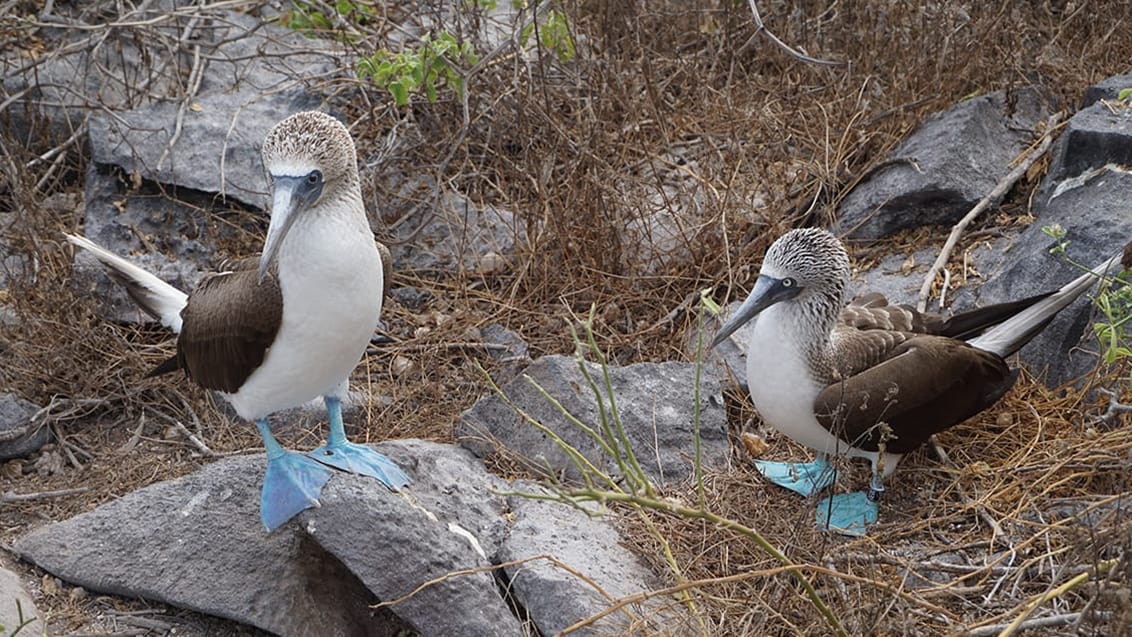
<svg viewBox="0 0 1132 637">
<path fill-rule="evenodd" d="M 1041 226 L 1041 232 L 1054 240 L 1049 253 L 1073 267 L 1089 272 L 1089 267 L 1069 256 L 1067 232 L 1060 224 Z M 1092 296 L 1101 319 L 1092 324 L 1092 332 L 1100 343 L 1101 360 L 1106 364 L 1132 359 L 1132 270 L 1125 269 L 1113 277 L 1103 277 L 1097 294 Z M 1132 376 L 1129 378 L 1132 384 Z"/>
</svg>

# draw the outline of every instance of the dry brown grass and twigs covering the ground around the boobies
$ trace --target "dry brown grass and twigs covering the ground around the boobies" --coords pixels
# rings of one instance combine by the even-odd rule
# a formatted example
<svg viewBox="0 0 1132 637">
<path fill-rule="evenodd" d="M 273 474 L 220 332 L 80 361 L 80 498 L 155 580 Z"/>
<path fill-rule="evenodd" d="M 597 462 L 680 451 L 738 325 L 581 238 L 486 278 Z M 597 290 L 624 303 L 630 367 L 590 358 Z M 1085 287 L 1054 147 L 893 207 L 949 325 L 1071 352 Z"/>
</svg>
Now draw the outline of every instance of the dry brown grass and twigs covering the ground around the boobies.
<svg viewBox="0 0 1132 637">
<path fill-rule="evenodd" d="M 488 390 L 477 361 L 495 367 L 481 351 L 447 344 L 494 321 L 521 333 L 532 355 L 563 353 L 573 350 L 567 325 L 595 305 L 595 335 L 615 363 L 686 360 L 696 292 L 715 285 L 718 299 L 741 294 L 774 236 L 829 221 L 839 199 L 927 114 L 1029 84 L 1072 110 L 1088 85 L 1127 71 L 1132 60 L 1132 8 L 1123 0 L 760 3 L 769 29 L 811 55 L 847 62 L 835 67 L 786 54 L 756 33 L 745 2 L 560 5 L 576 59 L 498 55 L 470 80 L 466 124 L 451 95 L 398 109 L 349 72 L 325 80 L 354 122 L 363 160 L 380 157 L 380 171 L 431 175 L 477 203 L 514 210 L 532 238 L 511 267 L 490 275 L 395 273 L 394 286 L 428 290 L 434 300 L 420 312 L 387 304 L 395 342 L 379 346 L 355 377 L 387 399 L 370 406 L 361 438 L 451 439 L 458 413 Z M 38 27 L 14 19 L 34 16 L 37 6 L 0 2 L 5 49 L 50 54 Z M 376 21 L 359 33 L 350 46 L 365 54 L 385 46 L 391 32 Z M 5 465 L 0 492 L 85 491 L 0 502 L 5 542 L 207 463 L 173 422 L 198 430 L 215 453 L 258 447 L 251 428 L 186 382 L 143 378 L 169 350 L 162 334 L 101 321 L 92 300 L 72 291 L 71 255 L 59 233 L 79 229 L 82 212 L 78 197 L 59 193 L 82 191 L 86 157 L 80 141 L 61 148 L 36 161 L 48 148 L 0 139 L 0 207 L 15 212 L 8 240 L 33 259 L 0 291 L 18 317 L 0 324 L 0 388 L 54 405 L 45 422 L 57 438 L 38 457 Z M 431 192 L 405 199 L 376 170 L 370 174 L 367 197 L 384 224 L 429 206 Z M 1035 175 L 1019 184 L 986 227 L 1027 219 L 1036 186 Z M 676 231 L 649 265 L 640 250 L 661 241 L 637 229 L 670 208 L 683 210 Z M 943 234 L 901 240 L 938 244 Z M 246 236 L 223 249 L 254 249 L 255 232 Z M 867 261 L 874 250 L 860 247 L 855 257 Z M 414 364 L 394 376 L 396 355 Z M 1121 371 L 1090 382 L 1117 386 Z M 1005 627 L 1031 610 L 1055 618 L 1031 634 L 1121 634 L 1132 630 L 1124 501 L 1132 436 L 1127 423 L 1096 424 L 1103 405 L 1088 395 L 1023 378 L 994 410 L 940 436 L 952 464 L 929 451 L 904 460 L 882 524 L 867 539 L 813 530 L 813 502 L 769 488 L 738 448 L 734 472 L 707 476 L 707 508 L 760 531 L 801 565 L 852 635 Z M 741 396 L 730 404 L 738 432 L 755 414 Z M 294 431 L 286 444 L 312 447 L 318 434 Z M 806 456 L 782 440 L 775 446 L 775 454 Z M 666 496 L 694 501 L 691 488 Z M 674 569 L 641 516 L 618 510 L 666 584 L 687 586 L 696 622 L 674 631 L 830 632 L 780 565 L 744 537 L 650 514 Z M 1038 601 L 1043 595 L 1049 599 Z M 60 632 L 126 604 L 50 584 L 38 602 Z"/>
</svg>

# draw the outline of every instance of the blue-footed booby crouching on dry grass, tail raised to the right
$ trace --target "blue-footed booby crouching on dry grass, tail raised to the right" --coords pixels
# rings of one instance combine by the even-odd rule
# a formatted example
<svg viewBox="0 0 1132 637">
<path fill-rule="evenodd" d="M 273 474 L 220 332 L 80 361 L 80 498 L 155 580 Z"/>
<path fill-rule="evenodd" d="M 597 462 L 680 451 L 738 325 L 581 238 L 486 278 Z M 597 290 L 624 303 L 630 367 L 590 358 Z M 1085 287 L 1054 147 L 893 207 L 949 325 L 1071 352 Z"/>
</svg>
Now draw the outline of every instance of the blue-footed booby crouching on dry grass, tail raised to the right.
<svg viewBox="0 0 1132 637">
<path fill-rule="evenodd" d="M 1117 261 L 1060 290 L 949 319 L 890 305 L 877 293 L 846 304 L 849 257 L 824 230 L 792 230 L 766 251 L 746 301 L 715 346 L 754 320 L 751 399 L 763 421 L 814 449 L 813 463 L 756 460 L 771 482 L 803 496 L 835 480 L 826 456 L 867 458 L 867 492 L 818 503 L 818 524 L 859 535 L 876 522 L 883 479 L 901 457 L 996 403 L 1018 377 L 1005 358 L 1036 336 Z"/>
</svg>

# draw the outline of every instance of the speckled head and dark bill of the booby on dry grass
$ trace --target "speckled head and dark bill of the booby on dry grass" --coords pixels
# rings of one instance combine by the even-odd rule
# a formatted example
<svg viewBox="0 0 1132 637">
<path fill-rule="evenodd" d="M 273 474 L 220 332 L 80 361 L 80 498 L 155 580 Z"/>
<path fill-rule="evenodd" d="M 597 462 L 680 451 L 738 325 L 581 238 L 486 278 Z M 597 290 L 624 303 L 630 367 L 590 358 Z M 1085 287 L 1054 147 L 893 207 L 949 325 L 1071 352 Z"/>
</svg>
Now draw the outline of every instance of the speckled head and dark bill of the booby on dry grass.
<svg viewBox="0 0 1132 637">
<path fill-rule="evenodd" d="M 720 344 L 775 303 L 817 299 L 823 317 L 834 320 L 844 304 L 848 283 L 849 256 L 835 236 L 816 227 L 791 230 L 766 251 L 755 287 L 735 315 L 720 326 L 711 346 Z"/>
</svg>

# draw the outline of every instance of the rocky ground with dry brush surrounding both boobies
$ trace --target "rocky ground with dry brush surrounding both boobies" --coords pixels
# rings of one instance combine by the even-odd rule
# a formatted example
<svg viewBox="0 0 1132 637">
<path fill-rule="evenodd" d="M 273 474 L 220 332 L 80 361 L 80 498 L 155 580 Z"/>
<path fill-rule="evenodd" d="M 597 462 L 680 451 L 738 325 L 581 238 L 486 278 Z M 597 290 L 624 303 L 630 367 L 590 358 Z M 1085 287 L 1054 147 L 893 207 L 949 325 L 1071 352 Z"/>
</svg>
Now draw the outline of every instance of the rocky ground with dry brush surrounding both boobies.
<svg viewBox="0 0 1132 637">
<path fill-rule="evenodd" d="M 947 310 L 1077 276 L 1049 253 L 1054 224 L 1077 261 L 1118 251 L 1129 7 L 449 5 L 0 6 L 0 625 L 34 609 L 22 635 L 1132 626 L 1132 434 L 1105 394 L 1127 368 L 1098 369 L 1089 302 L 1022 352 L 1006 399 L 906 460 L 865 539 L 814 528 L 814 502 L 747 464 L 745 434 L 808 451 L 761 427 L 736 344 L 696 363 L 715 325 L 700 291 L 741 299 L 792 226 L 834 229 L 860 290 L 916 303 L 987 199 L 931 279 Z M 357 77 L 439 33 L 478 53 L 463 91 L 398 106 Z M 268 536 L 255 432 L 145 377 L 168 335 L 60 233 L 191 289 L 258 249 L 259 144 L 311 107 L 350 123 L 393 255 L 346 421 L 414 485 L 336 477 Z M 624 439 L 580 427 L 615 414 Z M 274 425 L 311 448 L 321 418 Z"/>
</svg>

